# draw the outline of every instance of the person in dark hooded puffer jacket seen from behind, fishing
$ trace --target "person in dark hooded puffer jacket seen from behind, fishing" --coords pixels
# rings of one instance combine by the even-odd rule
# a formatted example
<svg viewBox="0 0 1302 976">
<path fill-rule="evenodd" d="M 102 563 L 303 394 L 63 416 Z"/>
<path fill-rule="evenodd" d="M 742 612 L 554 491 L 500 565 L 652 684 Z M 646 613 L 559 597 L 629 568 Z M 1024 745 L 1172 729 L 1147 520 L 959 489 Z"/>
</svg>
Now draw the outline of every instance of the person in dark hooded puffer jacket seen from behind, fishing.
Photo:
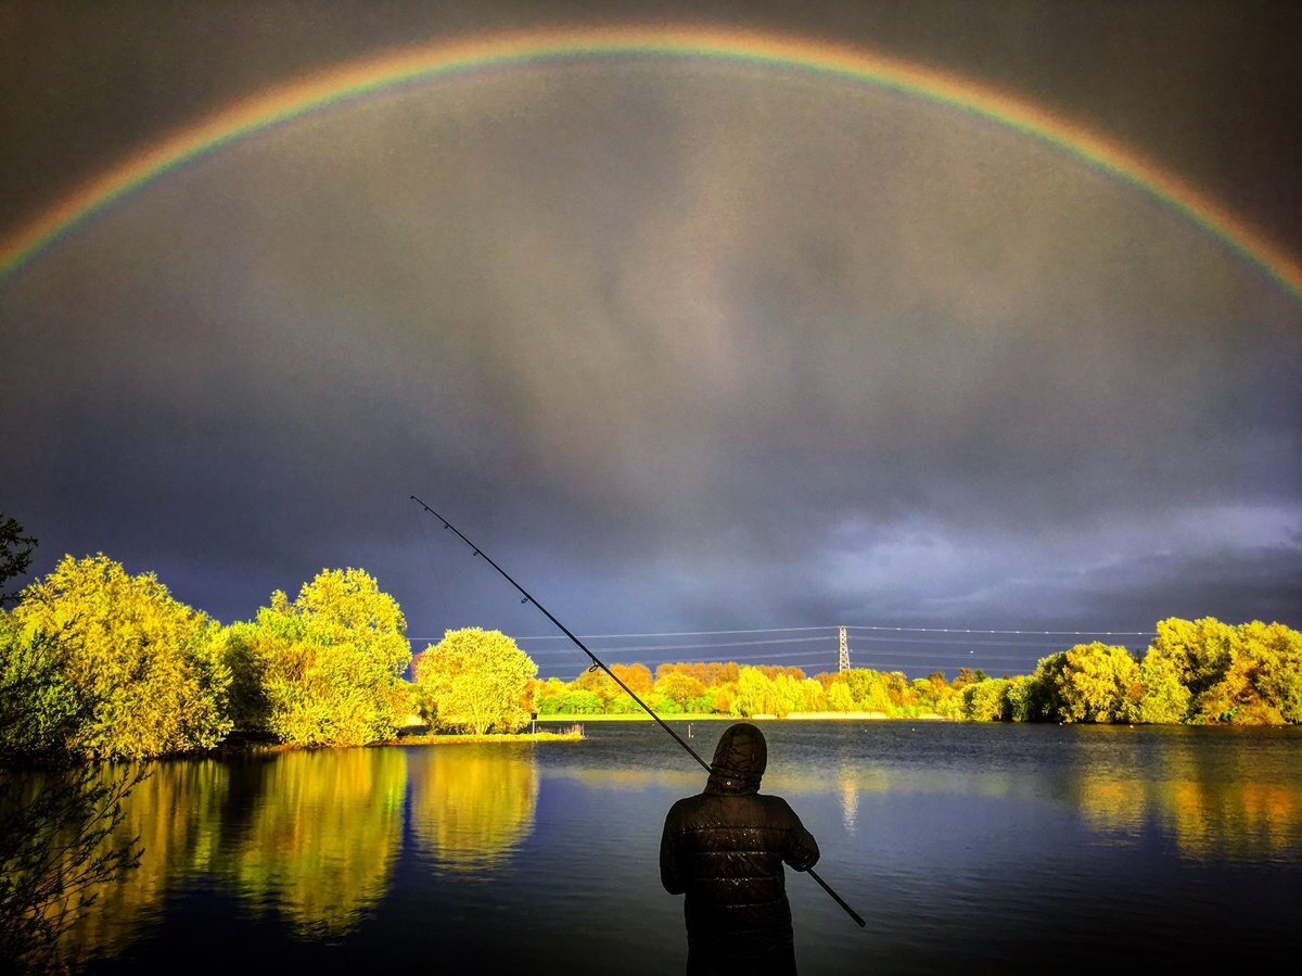
<svg viewBox="0 0 1302 976">
<path fill-rule="evenodd" d="M 809 870 L 818 844 L 781 796 L 760 796 L 764 734 L 745 722 L 719 739 L 706 791 L 669 808 L 660 881 L 686 894 L 687 973 L 794 973 L 783 861 Z"/>
</svg>

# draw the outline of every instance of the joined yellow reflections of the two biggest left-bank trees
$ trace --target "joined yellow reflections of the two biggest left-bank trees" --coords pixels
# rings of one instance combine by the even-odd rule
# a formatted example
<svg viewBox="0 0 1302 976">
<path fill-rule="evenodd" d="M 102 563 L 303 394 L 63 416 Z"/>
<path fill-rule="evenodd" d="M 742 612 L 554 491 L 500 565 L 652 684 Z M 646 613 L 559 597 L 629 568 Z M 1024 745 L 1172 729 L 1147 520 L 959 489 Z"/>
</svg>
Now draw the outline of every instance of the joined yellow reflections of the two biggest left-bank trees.
<svg viewBox="0 0 1302 976">
<path fill-rule="evenodd" d="M 237 775 L 232 777 L 232 771 Z M 251 782 L 232 809 L 232 779 Z M 402 751 L 284 753 L 247 766 L 159 762 L 124 805 L 118 842 L 139 837 L 138 870 L 91 889 L 95 908 L 65 937 L 73 958 L 113 955 L 158 917 L 168 887 L 214 873 L 302 932 L 350 928 L 384 894 L 402 839 Z"/>
</svg>

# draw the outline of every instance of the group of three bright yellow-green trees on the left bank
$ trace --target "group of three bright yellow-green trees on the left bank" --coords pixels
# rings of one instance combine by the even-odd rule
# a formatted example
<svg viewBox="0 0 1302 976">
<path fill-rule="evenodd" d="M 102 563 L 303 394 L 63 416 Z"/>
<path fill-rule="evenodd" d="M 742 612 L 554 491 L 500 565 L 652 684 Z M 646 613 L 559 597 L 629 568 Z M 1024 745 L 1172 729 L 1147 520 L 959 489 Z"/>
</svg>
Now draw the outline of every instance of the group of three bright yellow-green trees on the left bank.
<svg viewBox="0 0 1302 976">
<path fill-rule="evenodd" d="M 440 731 L 518 731 L 538 674 L 509 637 L 471 628 L 449 631 L 406 680 L 406 620 L 362 569 L 323 569 L 293 599 L 277 590 L 253 620 L 223 625 L 103 554 L 64 556 L 17 594 L 0 611 L 0 655 L 10 739 L 57 736 L 107 760 L 232 736 L 365 745 L 397 738 L 414 713 Z"/>
</svg>

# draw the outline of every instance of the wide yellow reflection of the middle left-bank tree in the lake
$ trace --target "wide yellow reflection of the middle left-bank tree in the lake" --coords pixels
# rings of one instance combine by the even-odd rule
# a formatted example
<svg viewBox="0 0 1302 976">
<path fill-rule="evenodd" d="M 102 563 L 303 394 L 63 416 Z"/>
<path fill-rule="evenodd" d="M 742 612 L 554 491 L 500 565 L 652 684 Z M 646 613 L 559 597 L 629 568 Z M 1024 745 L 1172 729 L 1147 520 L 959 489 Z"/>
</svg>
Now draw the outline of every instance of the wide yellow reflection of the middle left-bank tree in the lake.
<svg viewBox="0 0 1302 976">
<path fill-rule="evenodd" d="M 384 895 L 402 843 L 404 751 L 283 753 L 259 779 L 217 869 L 303 934 L 346 932 Z"/>
</svg>

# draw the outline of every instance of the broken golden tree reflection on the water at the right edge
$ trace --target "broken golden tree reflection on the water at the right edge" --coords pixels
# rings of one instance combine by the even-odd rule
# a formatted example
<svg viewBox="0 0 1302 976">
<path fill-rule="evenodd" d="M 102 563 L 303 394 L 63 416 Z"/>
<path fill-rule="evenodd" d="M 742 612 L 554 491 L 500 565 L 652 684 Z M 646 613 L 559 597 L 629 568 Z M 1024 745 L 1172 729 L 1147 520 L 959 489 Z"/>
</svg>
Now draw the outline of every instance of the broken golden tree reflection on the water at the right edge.
<svg viewBox="0 0 1302 976">
<path fill-rule="evenodd" d="M 1163 730 L 1148 749 L 1082 751 L 1073 795 L 1086 822 L 1125 831 L 1156 822 L 1199 857 L 1294 851 L 1302 834 L 1295 748 L 1264 738 L 1254 748 L 1241 734 L 1206 731 Z"/>
</svg>

